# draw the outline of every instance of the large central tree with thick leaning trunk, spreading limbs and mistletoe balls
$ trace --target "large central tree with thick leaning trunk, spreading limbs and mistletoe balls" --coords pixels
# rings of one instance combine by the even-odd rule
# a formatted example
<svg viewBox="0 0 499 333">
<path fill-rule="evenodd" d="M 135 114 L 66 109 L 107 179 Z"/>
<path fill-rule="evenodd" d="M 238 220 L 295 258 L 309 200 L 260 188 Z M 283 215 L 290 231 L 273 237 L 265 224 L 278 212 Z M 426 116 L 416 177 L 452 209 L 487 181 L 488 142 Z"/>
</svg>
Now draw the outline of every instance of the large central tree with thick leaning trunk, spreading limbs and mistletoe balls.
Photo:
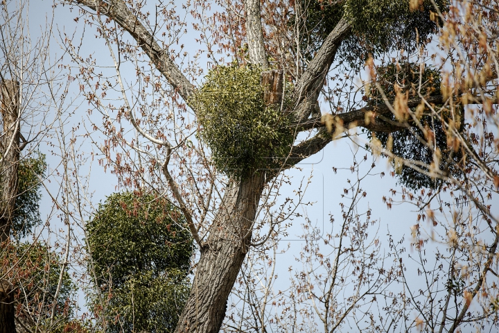
<svg viewBox="0 0 499 333">
<path fill-rule="evenodd" d="M 409 167 L 429 177 L 412 182 L 414 187 L 431 185 L 442 191 L 450 187 L 462 191 L 484 218 L 496 223 L 483 200 L 475 197 L 476 189 L 473 192 L 466 182 L 469 180 L 466 175 L 476 172 L 480 180 L 487 180 L 488 186 L 495 182 L 496 189 L 487 187 L 487 191 L 496 193 L 499 178 L 493 169 L 495 160 L 492 158 L 487 164 L 482 151 L 472 148 L 473 142 L 480 144 L 480 140 L 471 139 L 476 135 L 473 130 L 462 130 L 463 112 L 456 107 L 469 103 L 484 105 L 484 114 L 491 117 L 491 123 L 497 121 L 496 109 L 492 106 L 497 101 L 492 88 L 496 87 L 493 75 L 496 69 L 492 65 L 496 59 L 496 42 L 492 38 L 496 31 L 493 23 L 496 5 L 491 4 L 487 15 L 480 16 L 490 29 L 477 36 L 471 32 L 477 26 L 470 23 L 473 20 L 467 21 L 470 17 L 464 22 L 455 22 L 444 16 L 454 17 L 455 12 L 461 10 L 459 1 L 453 6 L 447 1 L 415 0 L 346 0 L 327 5 L 320 1 L 264 1 L 263 4 L 258 0 L 227 1 L 219 3 L 223 12 L 213 13 L 210 19 L 208 3 L 186 4 L 184 8 L 195 20 L 194 29 L 200 31 L 199 41 L 206 46 L 203 51 L 211 62 L 218 64 L 209 69 L 204 83 L 198 80 L 197 87 L 191 82 L 202 73 L 197 60 L 186 58 L 187 54 L 182 53 L 183 44 L 180 43 L 180 49 L 175 46 L 186 31 L 186 22 L 173 6 L 159 3 L 148 7 L 145 3 L 122 0 L 68 2 L 80 6 L 79 15 L 85 17 L 83 22 L 96 24 L 97 35 L 105 42 L 114 63 L 114 73 L 100 71 L 93 58 L 84 58 L 78 53 L 78 47 L 67 39 L 67 48 L 80 73 L 80 89 L 86 89 L 85 97 L 92 110 L 103 114 L 102 126 L 94 127 L 107 136 L 106 144 L 100 148 L 105 155 L 102 164 L 113 167 L 125 186 L 142 187 L 165 181 L 168 194 L 184 214 L 200 248 L 191 294 L 175 332 L 220 330 L 227 298 L 249 248 L 274 238 L 279 223 L 289 216 L 282 214 L 270 219 L 265 215 L 273 205 L 270 196 L 279 193 L 276 187 L 282 172 L 354 128 L 372 133 L 367 146 L 373 153 L 394 161 L 402 182 L 404 179 L 410 182 L 405 173 L 408 170 L 405 167 Z M 480 8 L 484 8 L 471 1 L 465 4 L 473 9 L 475 16 L 471 17 L 477 17 Z M 324 15 L 322 10 L 326 10 Z M 450 14 L 446 14 L 447 10 Z M 463 37 L 458 43 L 462 43 L 468 56 L 475 53 L 473 61 L 469 62 L 466 56 L 460 58 L 462 64 L 455 74 L 441 76 L 438 93 L 425 90 L 426 78 L 430 80 L 425 64 L 431 63 L 425 58 L 425 47 L 441 26 L 444 26 L 441 35 L 444 40 L 462 33 L 460 27 L 470 31 L 471 41 Z M 223 52 L 233 57 L 228 62 L 235 60 L 237 65 L 222 65 L 225 60 L 220 54 Z M 451 62 L 453 52 L 452 48 L 444 49 Z M 478 57 L 479 53 L 487 53 L 489 58 L 484 60 Z M 379 67 L 376 63 L 392 55 L 399 60 L 389 61 L 392 67 L 389 64 Z M 412 57 L 417 61 L 411 61 Z M 370 75 L 365 83 L 375 87 L 374 91 L 363 83 L 355 87 L 351 82 L 351 74 L 364 63 Z M 414 85 L 397 80 L 398 74 L 404 77 L 399 70 L 404 63 L 408 63 L 412 71 L 416 70 L 412 73 L 417 78 Z M 414 63 L 419 67 L 414 67 Z M 181 68 L 181 64 L 184 67 Z M 344 76 L 331 71 L 333 64 L 340 66 Z M 133 69 L 132 80 L 126 80 L 125 68 Z M 377 77 L 383 73 L 389 76 L 390 68 L 396 69 L 395 77 L 387 80 L 388 86 L 383 89 L 385 82 L 378 81 Z M 240 90 L 230 86 L 234 88 L 231 90 L 234 100 L 223 99 L 223 85 L 219 83 L 237 82 L 234 78 L 240 75 L 238 70 L 247 71 L 248 78 L 260 73 L 263 84 L 254 87 L 245 81 Z M 466 84 L 451 83 L 451 78 L 461 76 L 468 77 Z M 434 76 L 432 83 L 437 81 Z M 114 91 L 119 98 L 114 96 L 113 102 L 107 101 Z M 209 94 L 215 98 L 209 99 Z M 380 97 L 374 96 L 376 94 Z M 321 110 L 321 96 L 330 107 L 328 112 Z M 238 114 L 239 106 L 252 110 L 255 119 L 245 118 L 244 112 Z M 276 111 L 279 111 L 279 119 L 275 122 L 265 118 Z M 136 119 L 136 114 L 140 114 L 140 119 Z M 121 119 L 128 119 L 140 136 L 127 135 L 121 127 Z M 275 132 L 263 137 L 269 128 Z M 288 139 L 286 128 L 293 140 Z M 405 136 L 389 135 L 404 130 L 408 131 Z M 245 133 L 249 135 L 245 137 Z M 385 133 L 385 137 L 379 133 Z M 413 136 L 410 144 L 421 144 L 425 149 L 421 158 L 410 160 L 410 154 L 397 151 L 396 147 L 401 147 L 407 133 Z M 493 142 L 490 137 L 483 139 Z M 224 151 L 224 142 L 234 146 Z M 274 150 L 274 146 L 279 149 Z M 115 151 L 119 148 L 123 152 Z M 489 148 L 496 154 L 493 144 Z M 247 152 L 248 155 L 239 158 L 238 153 Z M 177 163 L 174 170 L 169 169 L 170 160 Z M 466 163 L 471 160 L 471 164 Z M 419 200 L 414 194 L 410 198 Z M 423 210 L 428 206 L 421 202 L 418 207 Z M 256 218 L 268 221 L 268 233 L 256 228 L 260 225 Z M 493 228 L 491 232 L 496 235 Z M 487 263 L 496 253 L 496 243 L 486 246 L 489 249 Z M 490 271 L 490 264 L 485 264 L 484 269 L 480 276 Z M 481 279 L 476 284 L 478 289 L 466 291 L 470 294 L 466 293 L 464 302 L 460 303 L 461 312 L 453 319 L 451 331 L 463 323 L 469 307 L 467 300 L 482 288 Z M 441 327 L 447 327 L 448 321 L 445 312 Z M 411 325 L 408 327 L 414 327 Z"/>
</svg>

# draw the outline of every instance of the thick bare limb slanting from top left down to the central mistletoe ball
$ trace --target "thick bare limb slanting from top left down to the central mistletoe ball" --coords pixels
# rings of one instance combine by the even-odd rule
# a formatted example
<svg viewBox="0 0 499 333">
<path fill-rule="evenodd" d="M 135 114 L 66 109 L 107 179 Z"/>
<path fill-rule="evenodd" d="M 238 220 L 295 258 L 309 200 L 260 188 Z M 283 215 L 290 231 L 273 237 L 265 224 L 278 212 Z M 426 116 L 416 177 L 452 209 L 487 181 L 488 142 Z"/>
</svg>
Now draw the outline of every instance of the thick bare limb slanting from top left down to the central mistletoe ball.
<svg viewBox="0 0 499 333">
<path fill-rule="evenodd" d="M 108 2 L 101 0 L 75 1 L 82 6 L 95 10 L 100 15 L 105 15 L 110 19 L 113 19 L 121 28 L 128 31 L 155 64 L 157 70 L 163 74 L 175 91 L 182 96 L 182 99 L 189 104 L 189 98 L 195 92 L 194 85 L 192 85 L 184 74 L 182 74 L 182 71 L 180 71 L 175 62 L 170 60 L 168 51 L 162 49 L 159 44 L 157 44 L 152 32 L 141 24 L 139 19 L 130 9 L 128 9 L 123 0 L 110 0 Z M 189 104 L 189 106 L 192 108 L 193 105 Z"/>
</svg>

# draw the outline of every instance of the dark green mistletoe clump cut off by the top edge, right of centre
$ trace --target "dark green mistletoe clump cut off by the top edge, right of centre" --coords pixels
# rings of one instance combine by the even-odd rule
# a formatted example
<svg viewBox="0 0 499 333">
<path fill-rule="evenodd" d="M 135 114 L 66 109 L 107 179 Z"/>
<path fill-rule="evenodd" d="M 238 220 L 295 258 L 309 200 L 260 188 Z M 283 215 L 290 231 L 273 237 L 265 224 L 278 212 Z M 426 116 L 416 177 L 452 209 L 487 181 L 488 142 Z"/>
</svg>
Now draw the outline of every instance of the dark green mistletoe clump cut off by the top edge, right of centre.
<svg viewBox="0 0 499 333">
<path fill-rule="evenodd" d="M 349 20 L 352 33 L 340 46 L 338 57 L 353 67 L 364 65 L 367 55 L 378 56 L 392 50 L 412 52 L 419 41 L 424 43 L 437 30 L 430 20 L 435 7 L 430 0 L 423 1 L 419 10 L 410 10 L 409 0 L 313 0 L 306 4 L 304 22 L 306 36 L 302 49 L 308 57 L 322 45 L 342 17 Z M 448 0 L 435 1 L 442 12 Z M 294 23 L 295 19 L 291 20 Z"/>
</svg>

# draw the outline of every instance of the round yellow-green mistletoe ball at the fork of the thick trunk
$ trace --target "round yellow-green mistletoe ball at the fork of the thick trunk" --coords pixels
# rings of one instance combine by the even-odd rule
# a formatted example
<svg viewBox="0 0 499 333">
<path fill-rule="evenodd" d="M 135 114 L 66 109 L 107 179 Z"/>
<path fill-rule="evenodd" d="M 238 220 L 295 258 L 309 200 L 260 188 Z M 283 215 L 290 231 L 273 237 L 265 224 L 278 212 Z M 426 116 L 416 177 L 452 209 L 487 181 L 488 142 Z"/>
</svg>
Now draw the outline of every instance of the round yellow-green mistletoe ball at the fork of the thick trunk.
<svg viewBox="0 0 499 333">
<path fill-rule="evenodd" d="M 257 169 L 279 167 L 290 151 L 290 118 L 263 102 L 259 67 L 218 66 L 195 96 L 201 138 L 222 173 L 244 178 Z"/>
</svg>

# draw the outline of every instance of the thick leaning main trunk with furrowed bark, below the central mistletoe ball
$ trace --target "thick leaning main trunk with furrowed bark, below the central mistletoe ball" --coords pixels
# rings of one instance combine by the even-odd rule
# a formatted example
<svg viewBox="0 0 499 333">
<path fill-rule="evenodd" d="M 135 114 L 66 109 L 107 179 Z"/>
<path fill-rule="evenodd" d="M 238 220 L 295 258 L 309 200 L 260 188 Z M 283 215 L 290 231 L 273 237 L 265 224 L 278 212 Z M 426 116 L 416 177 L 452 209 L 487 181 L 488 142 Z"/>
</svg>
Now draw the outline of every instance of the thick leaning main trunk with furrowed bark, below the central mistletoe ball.
<svg viewBox="0 0 499 333">
<path fill-rule="evenodd" d="M 227 298 L 247 253 L 263 190 L 263 171 L 225 192 L 207 246 L 201 251 L 193 287 L 175 332 L 218 332 Z"/>
</svg>

